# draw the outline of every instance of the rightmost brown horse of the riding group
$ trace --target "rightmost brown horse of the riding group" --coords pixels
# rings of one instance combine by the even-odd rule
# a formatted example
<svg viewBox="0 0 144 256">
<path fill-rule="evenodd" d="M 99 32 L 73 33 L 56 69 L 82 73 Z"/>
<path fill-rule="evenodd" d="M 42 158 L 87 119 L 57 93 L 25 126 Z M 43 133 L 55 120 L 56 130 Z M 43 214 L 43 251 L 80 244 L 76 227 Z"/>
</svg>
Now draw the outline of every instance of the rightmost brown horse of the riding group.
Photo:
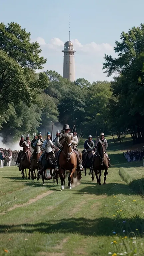
<svg viewBox="0 0 144 256">
<path fill-rule="evenodd" d="M 97 148 L 98 148 L 98 154 L 94 159 L 93 167 L 94 167 L 94 172 L 95 172 L 96 179 L 97 179 L 97 184 L 101 185 L 102 170 L 105 170 L 103 184 L 106 184 L 106 176 L 108 174 L 108 172 L 107 172 L 108 159 L 105 155 L 105 151 L 106 151 L 105 146 L 103 144 L 101 144 L 100 142 L 98 142 Z M 99 178 L 98 178 L 98 174 L 99 174 Z M 93 178 L 94 178 L 94 176 L 93 176 L 93 171 L 92 171 L 92 180 L 93 180 Z"/>
</svg>

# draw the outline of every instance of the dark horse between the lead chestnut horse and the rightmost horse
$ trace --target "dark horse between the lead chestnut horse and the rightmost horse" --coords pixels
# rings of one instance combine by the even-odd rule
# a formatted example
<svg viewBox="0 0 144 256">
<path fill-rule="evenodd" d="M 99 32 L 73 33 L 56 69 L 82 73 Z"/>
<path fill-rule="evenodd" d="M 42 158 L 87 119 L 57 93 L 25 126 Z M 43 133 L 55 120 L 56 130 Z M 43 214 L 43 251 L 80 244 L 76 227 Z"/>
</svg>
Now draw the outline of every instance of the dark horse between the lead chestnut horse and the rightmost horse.
<svg viewBox="0 0 144 256">
<path fill-rule="evenodd" d="M 85 170 L 85 176 L 86 176 L 86 169 L 90 169 L 91 165 L 92 165 L 92 158 L 94 155 L 94 150 L 92 151 L 87 151 L 87 150 L 83 150 L 82 152 L 82 166 Z M 89 172 L 90 175 L 90 172 Z"/>
</svg>

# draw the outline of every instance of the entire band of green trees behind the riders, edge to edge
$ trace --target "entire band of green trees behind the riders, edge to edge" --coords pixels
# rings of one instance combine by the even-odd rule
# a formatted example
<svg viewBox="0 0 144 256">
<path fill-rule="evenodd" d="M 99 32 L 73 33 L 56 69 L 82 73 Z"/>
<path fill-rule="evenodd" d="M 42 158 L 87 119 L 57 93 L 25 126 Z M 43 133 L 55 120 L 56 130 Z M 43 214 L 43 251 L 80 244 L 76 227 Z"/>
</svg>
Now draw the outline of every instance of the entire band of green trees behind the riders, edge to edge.
<svg viewBox="0 0 144 256">
<path fill-rule="evenodd" d="M 74 82 L 55 71 L 42 70 L 37 42 L 17 23 L 0 23 L 0 133 L 4 142 L 22 133 L 43 133 L 52 123 L 76 126 L 84 137 L 101 131 L 129 132 L 134 143 L 144 142 L 143 72 L 144 24 L 122 32 L 114 47 L 117 58 L 105 55 L 104 72 L 113 81 Z M 49 61 L 49 60 L 48 60 Z"/>
</svg>

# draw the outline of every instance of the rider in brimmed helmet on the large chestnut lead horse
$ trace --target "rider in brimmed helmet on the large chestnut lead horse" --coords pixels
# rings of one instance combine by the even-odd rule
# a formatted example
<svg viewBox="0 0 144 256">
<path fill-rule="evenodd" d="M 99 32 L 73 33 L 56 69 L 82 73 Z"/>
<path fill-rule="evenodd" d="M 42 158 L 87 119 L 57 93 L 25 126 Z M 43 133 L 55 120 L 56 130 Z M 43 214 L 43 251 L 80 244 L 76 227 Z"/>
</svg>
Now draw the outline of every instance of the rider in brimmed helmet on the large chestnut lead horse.
<svg viewBox="0 0 144 256">
<path fill-rule="evenodd" d="M 62 130 L 62 133 L 61 133 L 61 136 L 60 136 L 60 139 L 59 139 L 59 143 L 62 145 L 62 147 L 65 144 L 65 135 L 69 135 L 70 136 L 71 145 L 72 145 L 72 148 L 73 148 L 73 150 L 74 150 L 74 152 L 76 154 L 76 157 L 77 157 L 77 162 L 78 162 L 79 170 L 83 171 L 82 160 L 81 160 L 81 153 L 76 148 L 77 145 L 78 145 L 77 133 L 74 133 L 74 135 L 73 135 L 73 133 L 70 133 L 69 125 L 65 124 L 63 126 L 63 130 Z"/>
</svg>

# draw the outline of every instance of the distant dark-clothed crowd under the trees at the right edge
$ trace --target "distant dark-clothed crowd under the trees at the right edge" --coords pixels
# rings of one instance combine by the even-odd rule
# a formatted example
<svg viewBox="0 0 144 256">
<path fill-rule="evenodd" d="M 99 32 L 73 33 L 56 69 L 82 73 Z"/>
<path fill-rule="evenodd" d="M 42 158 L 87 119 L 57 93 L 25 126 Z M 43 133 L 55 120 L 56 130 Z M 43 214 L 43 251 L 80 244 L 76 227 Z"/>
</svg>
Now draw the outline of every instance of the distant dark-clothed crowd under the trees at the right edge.
<svg viewBox="0 0 144 256">
<path fill-rule="evenodd" d="M 142 161 L 144 158 L 144 147 L 140 150 L 130 150 L 123 154 L 128 162 Z"/>
</svg>

